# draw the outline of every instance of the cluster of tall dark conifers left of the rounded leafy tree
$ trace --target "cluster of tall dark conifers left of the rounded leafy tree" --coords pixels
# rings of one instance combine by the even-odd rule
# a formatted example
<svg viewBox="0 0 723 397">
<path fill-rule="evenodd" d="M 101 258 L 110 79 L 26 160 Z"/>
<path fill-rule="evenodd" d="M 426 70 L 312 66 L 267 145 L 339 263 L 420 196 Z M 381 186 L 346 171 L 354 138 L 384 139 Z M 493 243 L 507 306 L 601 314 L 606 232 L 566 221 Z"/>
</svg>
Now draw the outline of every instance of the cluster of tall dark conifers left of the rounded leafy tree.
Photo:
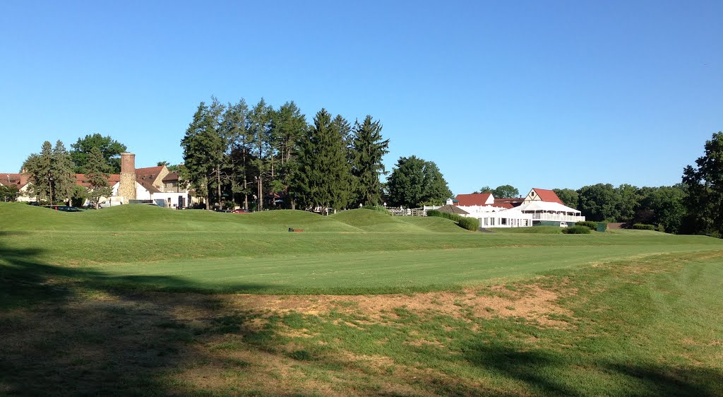
<svg viewBox="0 0 723 397">
<path fill-rule="evenodd" d="M 200 103 L 181 148 L 181 178 L 206 205 L 346 208 L 382 203 L 389 140 L 372 116 L 351 124 L 325 109 L 312 122 L 293 101 L 273 108 Z"/>
</svg>

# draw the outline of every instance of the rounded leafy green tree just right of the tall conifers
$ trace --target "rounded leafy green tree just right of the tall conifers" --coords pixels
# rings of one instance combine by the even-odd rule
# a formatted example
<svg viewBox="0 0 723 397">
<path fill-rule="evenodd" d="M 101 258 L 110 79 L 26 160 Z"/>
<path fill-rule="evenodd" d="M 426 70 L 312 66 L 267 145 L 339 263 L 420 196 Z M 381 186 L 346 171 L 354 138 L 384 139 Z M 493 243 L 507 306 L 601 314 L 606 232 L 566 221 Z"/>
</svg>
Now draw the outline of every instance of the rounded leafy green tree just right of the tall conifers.
<svg viewBox="0 0 723 397">
<path fill-rule="evenodd" d="M 390 204 L 394 206 L 440 205 L 452 196 L 437 165 L 414 155 L 399 158 L 387 187 Z"/>
</svg>

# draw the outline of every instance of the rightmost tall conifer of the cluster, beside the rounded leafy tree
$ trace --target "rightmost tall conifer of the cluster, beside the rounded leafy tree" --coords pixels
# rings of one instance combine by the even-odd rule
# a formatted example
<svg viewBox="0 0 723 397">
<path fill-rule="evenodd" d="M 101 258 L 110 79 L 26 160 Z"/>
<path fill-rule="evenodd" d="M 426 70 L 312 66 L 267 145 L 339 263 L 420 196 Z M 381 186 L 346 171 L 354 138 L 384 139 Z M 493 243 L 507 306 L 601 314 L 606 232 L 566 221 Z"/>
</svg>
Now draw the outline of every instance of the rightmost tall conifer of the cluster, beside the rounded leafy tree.
<svg viewBox="0 0 723 397">
<path fill-rule="evenodd" d="M 389 140 L 382 140 L 382 124 L 367 115 L 364 121 L 354 122 L 351 137 L 351 174 L 354 176 L 354 196 L 364 205 L 380 204 L 382 186 L 380 174 L 386 174 L 382 158 L 389 153 Z"/>
</svg>

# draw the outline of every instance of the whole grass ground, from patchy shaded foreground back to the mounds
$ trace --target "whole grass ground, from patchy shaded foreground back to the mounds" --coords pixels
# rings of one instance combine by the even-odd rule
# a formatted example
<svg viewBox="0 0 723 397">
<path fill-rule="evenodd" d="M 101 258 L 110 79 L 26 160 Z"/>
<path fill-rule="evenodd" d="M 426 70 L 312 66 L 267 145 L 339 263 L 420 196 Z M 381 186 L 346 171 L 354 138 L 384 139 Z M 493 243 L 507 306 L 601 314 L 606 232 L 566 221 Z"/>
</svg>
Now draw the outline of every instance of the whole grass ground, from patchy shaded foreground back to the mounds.
<svg viewBox="0 0 723 397">
<path fill-rule="evenodd" d="M 721 243 L 0 203 L 0 395 L 721 396 Z"/>
</svg>

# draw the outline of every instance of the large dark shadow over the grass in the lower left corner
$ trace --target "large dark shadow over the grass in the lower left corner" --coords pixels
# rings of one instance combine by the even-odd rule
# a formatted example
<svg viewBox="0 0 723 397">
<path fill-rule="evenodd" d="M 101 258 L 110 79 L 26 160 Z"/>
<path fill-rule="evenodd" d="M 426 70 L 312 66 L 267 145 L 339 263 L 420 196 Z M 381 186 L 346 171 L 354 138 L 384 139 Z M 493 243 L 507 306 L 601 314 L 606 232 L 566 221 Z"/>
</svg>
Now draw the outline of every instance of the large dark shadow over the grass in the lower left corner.
<svg viewBox="0 0 723 397">
<path fill-rule="evenodd" d="M 166 374 L 200 358 L 189 351 L 214 326 L 189 319 L 223 315 L 223 302 L 127 291 L 121 287 L 189 285 L 49 265 L 37 260 L 41 249 L 7 247 L 5 236 L 0 232 L 1 396 L 185 394 Z"/>
</svg>

